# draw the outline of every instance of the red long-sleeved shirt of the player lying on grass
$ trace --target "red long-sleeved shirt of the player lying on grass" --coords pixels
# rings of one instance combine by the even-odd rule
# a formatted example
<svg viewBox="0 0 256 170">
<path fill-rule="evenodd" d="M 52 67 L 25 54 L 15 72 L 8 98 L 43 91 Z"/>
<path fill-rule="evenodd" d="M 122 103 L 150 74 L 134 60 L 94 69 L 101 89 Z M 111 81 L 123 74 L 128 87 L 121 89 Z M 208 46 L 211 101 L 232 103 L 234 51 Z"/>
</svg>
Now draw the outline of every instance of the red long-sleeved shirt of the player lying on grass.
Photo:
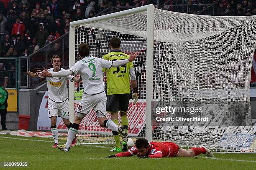
<svg viewBox="0 0 256 170">
<path fill-rule="evenodd" d="M 117 157 L 126 157 L 137 155 L 136 147 L 131 148 L 127 152 L 115 154 Z M 171 142 L 150 142 L 149 143 L 149 158 L 174 157 L 179 153 L 179 146 Z"/>
</svg>

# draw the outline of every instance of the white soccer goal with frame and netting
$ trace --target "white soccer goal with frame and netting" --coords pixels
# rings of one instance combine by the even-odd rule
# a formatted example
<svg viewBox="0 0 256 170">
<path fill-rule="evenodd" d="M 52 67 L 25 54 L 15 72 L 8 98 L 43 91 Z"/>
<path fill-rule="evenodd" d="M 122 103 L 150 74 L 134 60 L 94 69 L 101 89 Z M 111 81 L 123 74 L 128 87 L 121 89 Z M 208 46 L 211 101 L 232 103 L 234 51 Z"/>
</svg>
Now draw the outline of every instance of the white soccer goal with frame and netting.
<svg viewBox="0 0 256 170">
<path fill-rule="evenodd" d="M 128 108 L 131 138 L 171 141 L 181 147 L 204 145 L 224 152 L 256 151 L 249 94 L 256 16 L 190 15 L 146 5 L 74 21 L 70 23 L 69 65 L 79 60 L 80 43 L 89 45 L 90 55 L 102 57 L 110 52 L 113 36 L 121 39 L 123 52 L 138 52 L 133 64 L 139 100 L 136 105 L 131 100 Z M 69 82 L 71 120 L 81 89 Z M 166 106 L 203 109 L 200 114 L 156 113 Z M 192 116 L 209 120 L 187 119 Z M 114 141 L 92 111 L 81 122 L 79 143 Z"/>
</svg>

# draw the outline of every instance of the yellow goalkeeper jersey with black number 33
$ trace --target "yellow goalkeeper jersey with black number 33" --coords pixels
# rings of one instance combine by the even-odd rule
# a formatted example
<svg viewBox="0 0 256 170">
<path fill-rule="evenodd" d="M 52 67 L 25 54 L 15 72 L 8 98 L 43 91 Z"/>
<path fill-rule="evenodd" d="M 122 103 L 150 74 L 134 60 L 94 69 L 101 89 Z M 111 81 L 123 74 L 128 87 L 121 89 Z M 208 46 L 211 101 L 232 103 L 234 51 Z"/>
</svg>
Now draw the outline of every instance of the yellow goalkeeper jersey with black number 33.
<svg viewBox="0 0 256 170">
<path fill-rule="evenodd" d="M 121 50 L 113 50 L 112 52 L 103 55 L 104 60 L 125 60 L 130 56 L 123 53 Z M 120 67 L 102 68 L 102 71 L 107 72 L 107 95 L 115 94 L 130 94 L 130 72 L 133 68 L 133 62 L 128 62 Z"/>
</svg>

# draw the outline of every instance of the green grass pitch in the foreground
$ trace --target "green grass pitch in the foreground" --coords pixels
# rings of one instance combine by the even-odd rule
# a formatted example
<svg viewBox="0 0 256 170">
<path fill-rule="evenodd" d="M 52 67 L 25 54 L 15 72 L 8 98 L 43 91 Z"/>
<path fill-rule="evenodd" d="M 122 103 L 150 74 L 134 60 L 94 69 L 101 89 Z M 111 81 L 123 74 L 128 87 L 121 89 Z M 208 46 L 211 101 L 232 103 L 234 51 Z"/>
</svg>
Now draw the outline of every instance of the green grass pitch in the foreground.
<svg viewBox="0 0 256 170">
<path fill-rule="evenodd" d="M 60 140 L 60 144 L 64 143 L 65 140 Z M 0 135 L 0 145 L 2 164 L 28 163 L 27 168 L 18 170 L 256 170 L 256 154 L 215 153 L 214 159 L 205 158 L 205 155 L 196 158 L 105 158 L 113 155 L 109 151 L 113 145 L 77 145 L 64 153 L 51 148 L 52 139 L 12 135 Z"/>
</svg>

